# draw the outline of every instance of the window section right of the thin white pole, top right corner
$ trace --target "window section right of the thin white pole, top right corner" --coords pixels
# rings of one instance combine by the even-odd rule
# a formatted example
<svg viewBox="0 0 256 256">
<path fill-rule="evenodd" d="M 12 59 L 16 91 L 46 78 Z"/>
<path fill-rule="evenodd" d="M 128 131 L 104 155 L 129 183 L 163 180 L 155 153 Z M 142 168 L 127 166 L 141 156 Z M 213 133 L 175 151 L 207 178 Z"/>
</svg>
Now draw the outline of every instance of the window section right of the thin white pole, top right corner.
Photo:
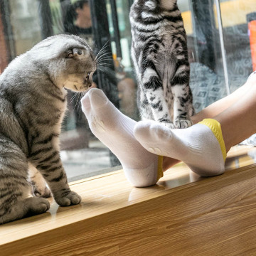
<svg viewBox="0 0 256 256">
<path fill-rule="evenodd" d="M 215 17 L 217 11 L 215 11 Z M 255 63 L 255 41 L 256 30 L 256 1 L 255 0 L 233 0 L 220 1 L 220 11 L 223 23 L 223 36 L 225 43 L 225 54 L 228 65 L 228 78 L 230 91 L 240 87 L 248 78 L 256 65 Z M 250 44 L 251 40 L 251 44 Z M 254 53 L 252 50 L 254 49 Z"/>
</svg>

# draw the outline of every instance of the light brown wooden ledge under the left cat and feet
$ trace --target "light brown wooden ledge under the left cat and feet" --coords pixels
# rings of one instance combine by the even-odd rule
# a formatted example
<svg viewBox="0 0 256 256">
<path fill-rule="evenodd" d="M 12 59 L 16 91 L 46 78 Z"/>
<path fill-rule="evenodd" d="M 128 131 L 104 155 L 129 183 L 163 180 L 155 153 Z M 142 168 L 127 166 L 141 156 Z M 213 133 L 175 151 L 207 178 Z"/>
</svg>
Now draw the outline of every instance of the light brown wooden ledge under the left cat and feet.
<svg viewBox="0 0 256 256">
<path fill-rule="evenodd" d="M 1 225 L 0 255 L 256 255 L 255 154 L 235 147 L 212 178 L 178 164 L 150 188 L 122 171 L 75 181 L 79 206 Z"/>
</svg>

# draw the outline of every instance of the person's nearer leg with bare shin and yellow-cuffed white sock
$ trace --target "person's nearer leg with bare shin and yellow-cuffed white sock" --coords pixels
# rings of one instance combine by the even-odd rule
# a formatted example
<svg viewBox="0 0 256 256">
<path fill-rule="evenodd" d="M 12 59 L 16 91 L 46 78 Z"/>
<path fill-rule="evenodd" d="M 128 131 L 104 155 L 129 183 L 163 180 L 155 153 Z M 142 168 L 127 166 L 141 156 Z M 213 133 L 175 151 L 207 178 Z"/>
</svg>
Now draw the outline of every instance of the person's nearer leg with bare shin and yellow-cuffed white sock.
<svg viewBox="0 0 256 256">
<path fill-rule="evenodd" d="M 243 96 L 236 92 L 235 96 L 228 98 L 232 104 L 213 117 L 218 122 L 206 119 L 188 129 L 173 130 L 156 122 L 139 122 L 134 135 L 145 149 L 184 161 L 201 176 L 221 174 L 224 171 L 225 152 L 256 132 L 256 114 L 253 111 L 256 107 L 256 86 L 252 86 L 256 85 L 255 77 L 245 84 L 247 90 Z M 220 107 L 223 102 L 225 100 L 222 100 Z M 203 114 L 203 117 L 208 116 Z M 224 139 L 224 145 L 219 139 Z M 168 161 L 168 158 L 165 160 Z"/>
</svg>

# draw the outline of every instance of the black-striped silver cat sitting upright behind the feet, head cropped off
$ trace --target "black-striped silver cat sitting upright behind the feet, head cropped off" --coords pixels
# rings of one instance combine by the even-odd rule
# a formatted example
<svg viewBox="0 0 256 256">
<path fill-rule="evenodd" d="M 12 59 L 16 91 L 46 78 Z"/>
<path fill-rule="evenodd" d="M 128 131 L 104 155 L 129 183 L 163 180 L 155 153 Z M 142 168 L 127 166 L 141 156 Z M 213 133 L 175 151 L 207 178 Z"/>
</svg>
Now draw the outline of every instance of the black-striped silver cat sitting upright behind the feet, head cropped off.
<svg viewBox="0 0 256 256">
<path fill-rule="evenodd" d="M 132 59 L 142 119 L 191 126 L 188 49 L 176 0 L 135 0 L 130 11 Z"/>
</svg>

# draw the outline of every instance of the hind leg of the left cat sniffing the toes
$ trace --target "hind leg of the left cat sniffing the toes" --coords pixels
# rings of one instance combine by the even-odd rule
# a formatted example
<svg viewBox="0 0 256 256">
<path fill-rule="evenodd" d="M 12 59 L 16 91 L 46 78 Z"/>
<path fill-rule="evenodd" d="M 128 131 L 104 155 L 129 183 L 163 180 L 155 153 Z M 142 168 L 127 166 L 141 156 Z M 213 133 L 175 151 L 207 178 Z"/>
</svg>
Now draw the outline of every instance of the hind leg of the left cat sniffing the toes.
<svg viewBox="0 0 256 256">
<path fill-rule="evenodd" d="M 28 162 L 21 149 L 0 138 L 0 224 L 44 213 L 50 203 L 31 195 L 27 181 Z"/>
</svg>

